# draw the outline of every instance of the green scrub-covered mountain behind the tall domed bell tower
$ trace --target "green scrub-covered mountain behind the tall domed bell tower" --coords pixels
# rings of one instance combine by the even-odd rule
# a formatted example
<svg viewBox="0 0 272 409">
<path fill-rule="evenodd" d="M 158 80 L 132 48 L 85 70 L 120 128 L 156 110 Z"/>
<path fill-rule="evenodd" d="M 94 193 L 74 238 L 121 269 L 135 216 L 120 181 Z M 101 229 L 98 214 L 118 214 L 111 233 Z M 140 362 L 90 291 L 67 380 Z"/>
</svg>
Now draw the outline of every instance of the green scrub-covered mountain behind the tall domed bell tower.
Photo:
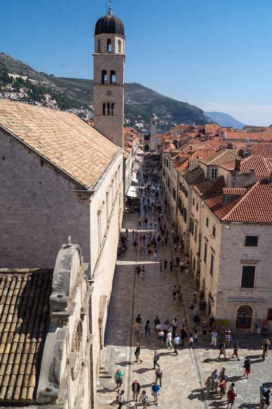
<svg viewBox="0 0 272 409">
<path fill-rule="evenodd" d="M 1 81 L 2 69 L 2 81 Z M 1 85 L 8 85 L 6 74 L 18 75 L 22 78 L 16 80 L 16 89 L 24 85 L 24 89 L 31 89 L 29 100 L 33 96 L 41 101 L 40 95 L 50 94 L 62 109 L 87 108 L 93 102 L 93 81 L 88 79 L 55 77 L 53 74 L 37 72 L 29 65 L 15 58 L 0 53 L 0 89 Z M 26 81 L 28 80 L 28 84 Z M 13 85 L 12 85 L 13 86 Z M 27 91 L 26 91 L 27 92 Z M 28 98 L 27 98 L 28 100 Z M 196 123 L 198 125 L 210 122 L 202 109 L 186 102 L 158 94 L 154 90 L 138 83 L 125 84 L 125 118 L 130 120 L 130 125 L 143 122 L 144 127 L 149 129 L 150 116 L 152 113 L 159 119 L 159 127 L 162 130 L 180 123 Z"/>
</svg>

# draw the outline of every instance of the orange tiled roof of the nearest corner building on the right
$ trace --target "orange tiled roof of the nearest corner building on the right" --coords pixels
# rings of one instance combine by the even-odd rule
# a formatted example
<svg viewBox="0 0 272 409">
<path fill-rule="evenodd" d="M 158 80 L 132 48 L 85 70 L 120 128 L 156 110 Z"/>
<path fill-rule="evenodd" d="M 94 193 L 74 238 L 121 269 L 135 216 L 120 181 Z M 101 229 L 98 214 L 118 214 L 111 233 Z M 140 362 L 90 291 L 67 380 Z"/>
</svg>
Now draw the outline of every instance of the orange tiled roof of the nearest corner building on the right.
<svg viewBox="0 0 272 409">
<path fill-rule="evenodd" d="M 257 181 L 243 196 L 228 205 L 223 205 L 222 196 L 205 202 L 222 221 L 272 223 L 272 183 L 269 179 Z"/>
</svg>

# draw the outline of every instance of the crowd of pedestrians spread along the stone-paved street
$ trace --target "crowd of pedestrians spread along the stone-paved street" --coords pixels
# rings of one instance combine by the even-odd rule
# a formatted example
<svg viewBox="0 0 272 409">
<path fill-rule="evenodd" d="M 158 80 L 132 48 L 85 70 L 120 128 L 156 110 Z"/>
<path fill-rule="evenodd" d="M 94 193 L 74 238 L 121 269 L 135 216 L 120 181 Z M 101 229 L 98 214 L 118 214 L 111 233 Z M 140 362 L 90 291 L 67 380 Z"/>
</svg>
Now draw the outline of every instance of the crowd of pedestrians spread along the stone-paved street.
<svg viewBox="0 0 272 409">
<path fill-rule="evenodd" d="M 166 274 L 173 274 L 173 267 L 175 271 L 178 271 L 180 275 L 186 275 L 190 271 L 191 261 L 188 255 L 184 252 L 183 238 L 179 236 L 175 223 L 172 223 L 171 230 L 168 230 L 168 223 L 166 221 L 166 208 L 167 201 L 164 200 L 163 187 L 160 175 L 160 165 L 152 160 L 152 155 L 145 155 L 144 162 L 139 169 L 138 178 L 140 180 L 139 198 L 140 207 L 142 212 L 139 216 L 139 231 L 133 230 L 129 232 L 126 229 L 125 234 L 121 236 L 121 242 L 127 246 L 127 239 L 131 235 L 133 252 L 142 254 L 153 255 L 153 260 L 157 262 L 160 273 L 164 276 Z M 170 229 L 170 228 L 169 228 Z M 159 256 L 160 252 L 163 253 L 163 249 L 168 245 L 169 237 L 171 237 L 172 255 L 170 258 Z M 145 280 L 146 278 L 146 266 L 136 266 L 137 280 Z M 162 277 L 163 277 L 162 276 Z M 173 277 L 175 277 L 173 275 Z M 196 283 L 197 284 L 197 283 Z M 177 302 L 178 307 L 182 305 L 183 301 L 183 289 L 176 283 L 171 289 L 172 300 Z M 142 364 L 141 359 L 141 340 L 145 337 L 152 337 L 154 340 L 155 348 L 153 352 L 153 370 L 154 381 L 151 387 L 151 396 L 148 396 L 146 388 L 142 388 L 138 379 L 134 379 L 131 385 L 132 401 L 128 406 L 134 407 L 138 401 L 146 408 L 151 400 L 158 404 L 158 397 L 160 395 L 160 389 L 163 388 L 163 368 L 160 364 L 159 349 L 162 347 L 173 351 L 173 355 L 177 356 L 183 348 L 198 348 L 200 341 L 210 344 L 213 348 L 218 348 L 218 361 L 221 357 L 227 361 L 229 359 L 237 359 L 240 361 L 239 343 L 238 340 L 232 339 L 231 330 L 226 327 L 223 333 L 216 326 L 216 321 L 211 315 L 210 320 L 200 320 L 199 302 L 203 299 L 203 293 L 198 292 L 198 285 L 196 290 L 192 293 L 192 299 L 189 305 L 189 311 L 191 311 L 191 321 L 188 323 L 186 317 L 180 319 L 179 317 L 166 317 L 161 320 L 158 315 L 154 319 L 142 321 L 141 314 L 139 313 L 135 317 L 133 324 L 133 331 L 137 344 L 135 346 L 134 355 L 135 363 Z M 257 331 L 258 333 L 258 331 Z M 218 343 L 219 339 L 219 343 Z M 231 353 L 229 352 L 230 344 L 232 346 Z M 263 339 L 262 348 L 264 356 L 267 356 L 267 351 L 270 343 L 267 338 Z M 266 355 L 265 355 L 266 354 Z M 227 356 L 228 355 L 228 356 Z M 150 356 L 150 363 L 151 363 Z M 147 362 L 145 362 L 148 365 Z M 243 359 L 243 374 L 241 378 L 248 378 L 251 374 L 251 360 L 249 357 Z M 115 373 L 116 389 L 118 389 L 117 401 L 119 403 L 119 409 L 124 404 L 124 390 L 121 390 L 123 383 L 123 371 L 118 369 Z M 226 407 L 233 407 L 235 399 L 237 397 L 237 390 L 235 382 L 231 382 L 229 376 L 226 374 L 226 368 L 222 367 L 220 372 L 214 370 L 210 376 L 208 376 L 206 382 L 206 395 L 203 399 L 214 398 L 219 395 L 220 399 L 226 399 Z M 120 392 L 121 390 L 121 392 Z M 218 396 L 217 396 L 218 398 Z M 260 407 L 268 408 L 270 401 L 270 390 L 265 387 L 265 384 L 260 387 Z"/>
</svg>

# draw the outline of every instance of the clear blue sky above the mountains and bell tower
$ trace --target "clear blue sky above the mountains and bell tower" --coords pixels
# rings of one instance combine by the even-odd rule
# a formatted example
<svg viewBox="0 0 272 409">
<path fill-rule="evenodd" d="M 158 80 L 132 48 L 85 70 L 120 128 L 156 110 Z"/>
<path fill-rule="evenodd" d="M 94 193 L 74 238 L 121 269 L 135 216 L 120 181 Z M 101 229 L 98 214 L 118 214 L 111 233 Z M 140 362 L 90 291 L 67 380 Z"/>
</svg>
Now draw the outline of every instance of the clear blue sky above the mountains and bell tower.
<svg viewBox="0 0 272 409">
<path fill-rule="evenodd" d="M 270 0 L 112 0 L 125 27 L 125 81 L 248 125 L 272 123 Z M 56 76 L 93 78 L 106 0 L 10 0 L 0 52 Z"/>
</svg>

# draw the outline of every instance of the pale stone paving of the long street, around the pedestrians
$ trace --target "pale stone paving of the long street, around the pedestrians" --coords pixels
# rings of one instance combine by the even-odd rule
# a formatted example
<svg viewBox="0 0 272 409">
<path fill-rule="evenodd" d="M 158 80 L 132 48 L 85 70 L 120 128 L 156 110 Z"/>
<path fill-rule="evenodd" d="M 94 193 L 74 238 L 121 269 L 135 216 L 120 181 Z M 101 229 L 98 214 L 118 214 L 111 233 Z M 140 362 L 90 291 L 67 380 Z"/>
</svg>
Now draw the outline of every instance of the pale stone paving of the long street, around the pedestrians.
<svg viewBox="0 0 272 409">
<path fill-rule="evenodd" d="M 170 213 L 167 215 L 168 230 L 171 232 Z M 149 219 L 150 217 L 157 218 L 157 214 L 154 216 L 149 213 L 147 216 Z M 153 253 L 150 255 L 133 253 L 131 231 L 137 229 L 139 234 L 141 231 L 143 232 L 139 228 L 138 213 L 125 213 L 123 230 L 126 228 L 130 230 L 127 239 L 128 250 L 117 261 L 105 335 L 105 345 L 115 349 L 115 362 L 112 366 L 111 377 L 100 378 L 98 386 L 99 408 L 106 409 L 117 405 L 117 391 L 114 390 L 114 372 L 117 368 L 121 368 L 124 372 L 123 389 L 125 390 L 126 401 L 132 400 L 131 383 L 134 379 L 138 379 L 141 390 L 146 390 L 148 394 L 149 405 L 153 405 L 151 385 L 155 380 L 152 360 L 155 350 L 160 353 L 159 363 L 163 369 L 163 388 L 160 391 L 158 406 L 170 406 L 171 408 L 217 408 L 225 406 L 225 401 L 221 401 L 219 395 L 211 395 L 208 399 L 205 393 L 207 376 L 215 368 L 220 371 L 224 366 L 230 381 L 236 382 L 238 396 L 234 407 L 257 408 L 259 385 L 271 381 L 269 378 L 271 376 L 271 360 L 268 357 L 265 362 L 261 361 L 259 355 L 261 354 L 262 338 L 257 337 L 257 335 L 234 337 L 239 339 L 240 361 L 233 359 L 218 361 L 216 359 L 219 354 L 218 348 L 210 348 L 208 336 L 206 343 L 200 341 L 198 347 L 192 350 L 188 348 L 187 340 L 185 347 L 179 350 L 178 356 L 175 356 L 173 350 L 165 349 L 163 344 L 158 342 L 152 329 L 151 334 L 147 337 L 144 333 L 140 336 L 142 364 L 134 362 L 134 349 L 137 342 L 133 333 L 135 316 L 141 313 L 144 325 L 146 320 L 150 320 L 152 327 L 156 315 L 161 322 L 169 319 L 170 323 L 176 317 L 178 333 L 183 318 L 187 317 L 190 327 L 193 328 L 188 307 L 195 290 L 195 283 L 190 274 L 180 275 L 175 267 L 173 273 L 169 269 L 167 272 L 160 271 L 158 261 L 165 258 L 169 261 L 172 258 L 171 241 L 168 241 L 167 246 L 158 247 L 156 261 L 154 261 Z M 155 235 L 157 233 L 154 231 Z M 146 274 L 143 280 L 135 277 L 136 264 L 145 265 Z M 174 284 L 182 286 L 183 304 L 181 307 L 178 307 L 176 300 L 172 300 L 171 289 Z M 189 335 L 190 329 L 187 333 Z M 201 334 L 200 329 L 199 333 Z M 232 345 L 227 356 L 232 355 Z M 250 356 L 252 359 L 252 373 L 248 379 L 241 377 L 244 372 L 242 367 L 245 356 Z M 272 383 L 268 385 L 271 386 Z M 142 403 L 138 402 L 137 406 L 142 407 Z"/>
</svg>

